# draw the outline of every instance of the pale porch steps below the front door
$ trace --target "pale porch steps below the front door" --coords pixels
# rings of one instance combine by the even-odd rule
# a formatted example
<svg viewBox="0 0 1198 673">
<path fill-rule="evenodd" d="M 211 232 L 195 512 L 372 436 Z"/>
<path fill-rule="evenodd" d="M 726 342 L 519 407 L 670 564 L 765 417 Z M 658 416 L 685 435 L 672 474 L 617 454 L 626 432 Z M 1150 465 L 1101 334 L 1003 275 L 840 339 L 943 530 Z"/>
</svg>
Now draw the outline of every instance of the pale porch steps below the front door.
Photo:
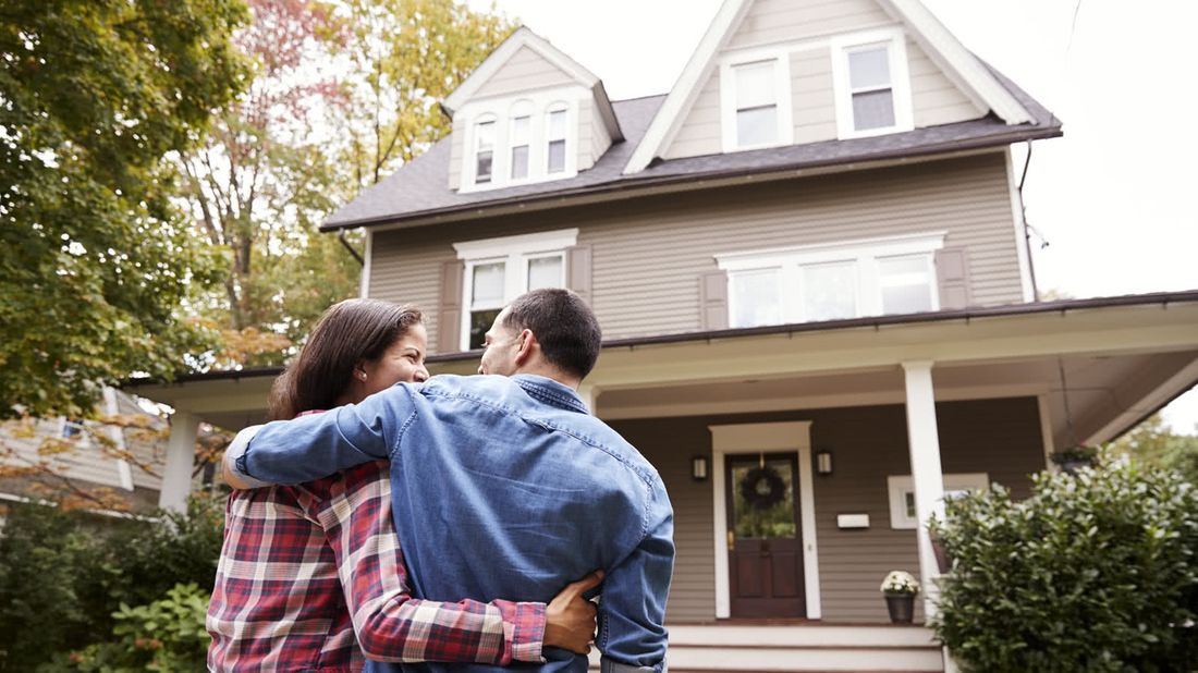
<svg viewBox="0 0 1198 673">
<path fill-rule="evenodd" d="M 922 626 L 668 626 L 671 673 L 942 673 Z M 599 654 L 591 653 L 591 668 Z"/>
</svg>

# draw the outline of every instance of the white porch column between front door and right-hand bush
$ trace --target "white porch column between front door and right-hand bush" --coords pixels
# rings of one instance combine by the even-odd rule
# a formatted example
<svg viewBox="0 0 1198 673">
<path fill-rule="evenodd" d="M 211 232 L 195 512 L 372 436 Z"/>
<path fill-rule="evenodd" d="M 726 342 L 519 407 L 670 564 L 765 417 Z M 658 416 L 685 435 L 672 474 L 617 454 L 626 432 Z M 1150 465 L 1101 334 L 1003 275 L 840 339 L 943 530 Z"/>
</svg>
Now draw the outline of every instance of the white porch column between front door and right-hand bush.
<svg viewBox="0 0 1198 673">
<path fill-rule="evenodd" d="M 907 382 L 907 437 L 910 444 L 910 480 L 915 489 L 919 519 L 919 575 L 924 588 L 924 616 L 936 614 L 939 575 L 927 522 L 934 514 L 944 521 L 944 473 L 940 468 L 940 438 L 936 425 L 936 394 L 932 389 L 932 362 L 902 363 Z"/>
</svg>

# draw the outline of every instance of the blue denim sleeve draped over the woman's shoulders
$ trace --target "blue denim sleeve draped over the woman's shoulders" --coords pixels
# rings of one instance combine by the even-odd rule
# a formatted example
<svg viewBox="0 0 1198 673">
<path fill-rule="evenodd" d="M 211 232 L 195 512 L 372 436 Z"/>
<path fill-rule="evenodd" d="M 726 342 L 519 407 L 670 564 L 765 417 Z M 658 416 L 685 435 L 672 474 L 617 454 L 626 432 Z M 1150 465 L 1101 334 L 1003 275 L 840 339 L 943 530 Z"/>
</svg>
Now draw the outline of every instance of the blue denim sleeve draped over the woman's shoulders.
<svg viewBox="0 0 1198 673">
<path fill-rule="evenodd" d="M 416 389 L 398 383 L 357 405 L 260 426 L 232 471 L 255 486 L 295 485 L 391 457 L 416 416 Z"/>
</svg>

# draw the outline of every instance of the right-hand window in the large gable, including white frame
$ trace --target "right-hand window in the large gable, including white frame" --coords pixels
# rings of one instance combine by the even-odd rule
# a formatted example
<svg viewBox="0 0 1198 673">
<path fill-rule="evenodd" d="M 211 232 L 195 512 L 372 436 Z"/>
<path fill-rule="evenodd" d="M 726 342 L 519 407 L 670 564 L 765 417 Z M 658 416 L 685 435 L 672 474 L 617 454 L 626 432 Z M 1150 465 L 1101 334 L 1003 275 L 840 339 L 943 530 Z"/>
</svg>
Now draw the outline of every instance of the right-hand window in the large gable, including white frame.
<svg viewBox="0 0 1198 673">
<path fill-rule="evenodd" d="M 904 40 L 902 31 L 887 30 L 833 42 L 841 138 L 913 128 Z"/>
</svg>

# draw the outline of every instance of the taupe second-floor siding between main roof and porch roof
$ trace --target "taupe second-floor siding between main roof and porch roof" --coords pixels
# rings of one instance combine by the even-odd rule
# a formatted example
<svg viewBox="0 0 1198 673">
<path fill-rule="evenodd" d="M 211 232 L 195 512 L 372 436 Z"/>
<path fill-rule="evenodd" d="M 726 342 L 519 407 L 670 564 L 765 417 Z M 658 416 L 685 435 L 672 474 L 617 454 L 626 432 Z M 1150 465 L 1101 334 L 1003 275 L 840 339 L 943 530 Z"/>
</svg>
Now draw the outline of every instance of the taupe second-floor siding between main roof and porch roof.
<svg viewBox="0 0 1198 673">
<path fill-rule="evenodd" d="M 1003 153 L 379 232 L 370 293 L 437 305 L 452 243 L 580 228 L 593 248 L 593 307 L 606 338 L 701 328 L 700 274 L 714 255 L 948 231 L 967 250 L 978 305 L 1022 301 Z M 436 342 L 436 316 L 429 316 Z"/>
</svg>

